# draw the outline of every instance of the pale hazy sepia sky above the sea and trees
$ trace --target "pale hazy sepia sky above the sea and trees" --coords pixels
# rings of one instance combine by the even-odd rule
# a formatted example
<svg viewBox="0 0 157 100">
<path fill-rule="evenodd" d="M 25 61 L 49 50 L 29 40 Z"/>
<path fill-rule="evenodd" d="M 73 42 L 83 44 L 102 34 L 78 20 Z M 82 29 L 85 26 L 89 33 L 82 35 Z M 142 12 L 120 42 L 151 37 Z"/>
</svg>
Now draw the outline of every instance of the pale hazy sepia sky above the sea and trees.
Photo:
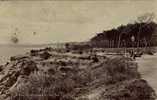
<svg viewBox="0 0 157 100">
<path fill-rule="evenodd" d="M 10 43 L 15 32 L 22 44 L 89 40 L 143 13 L 157 15 L 156 5 L 157 0 L 2 1 L 0 43 Z"/>
</svg>

